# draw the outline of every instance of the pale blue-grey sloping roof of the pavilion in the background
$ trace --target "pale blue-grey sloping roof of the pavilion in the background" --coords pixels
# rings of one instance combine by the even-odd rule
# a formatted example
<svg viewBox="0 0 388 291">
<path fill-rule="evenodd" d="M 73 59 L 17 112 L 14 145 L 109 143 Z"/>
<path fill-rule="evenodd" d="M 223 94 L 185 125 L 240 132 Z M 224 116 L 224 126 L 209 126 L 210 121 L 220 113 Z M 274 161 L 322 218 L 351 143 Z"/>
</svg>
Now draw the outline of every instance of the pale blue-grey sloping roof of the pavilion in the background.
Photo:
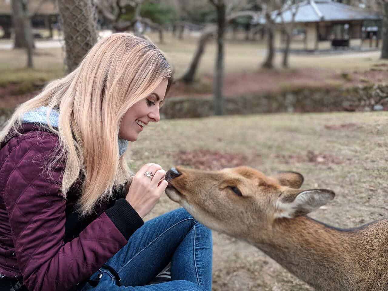
<svg viewBox="0 0 388 291">
<path fill-rule="evenodd" d="M 296 4 L 297 5 L 297 4 Z M 282 12 L 284 22 L 292 20 L 292 11 L 296 9 L 292 5 L 291 9 Z M 279 11 L 272 12 L 272 18 L 276 23 L 281 23 Z M 348 20 L 381 20 L 383 17 L 376 12 L 367 9 L 353 7 L 332 0 L 307 0 L 299 3 L 298 12 L 295 15 L 295 23 L 322 22 L 322 21 L 348 21 Z M 263 23 L 265 20 L 258 19 Z"/>
</svg>

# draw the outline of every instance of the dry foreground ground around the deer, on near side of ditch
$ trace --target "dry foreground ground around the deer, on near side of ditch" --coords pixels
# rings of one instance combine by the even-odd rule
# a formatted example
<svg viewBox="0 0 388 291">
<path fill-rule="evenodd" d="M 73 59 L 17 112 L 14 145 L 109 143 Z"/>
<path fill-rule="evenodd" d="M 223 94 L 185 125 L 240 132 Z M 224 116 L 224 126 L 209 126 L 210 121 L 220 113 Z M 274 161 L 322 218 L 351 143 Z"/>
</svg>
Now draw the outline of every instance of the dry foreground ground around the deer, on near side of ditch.
<svg viewBox="0 0 388 291">
<path fill-rule="evenodd" d="M 305 177 L 302 188 L 336 192 L 311 217 L 336 227 L 356 227 L 388 217 L 387 122 L 384 112 L 163 120 L 148 125 L 130 145 L 130 165 L 298 171 Z M 146 218 L 177 207 L 164 196 Z M 312 290 L 246 242 L 218 232 L 213 239 L 214 291 Z"/>
</svg>

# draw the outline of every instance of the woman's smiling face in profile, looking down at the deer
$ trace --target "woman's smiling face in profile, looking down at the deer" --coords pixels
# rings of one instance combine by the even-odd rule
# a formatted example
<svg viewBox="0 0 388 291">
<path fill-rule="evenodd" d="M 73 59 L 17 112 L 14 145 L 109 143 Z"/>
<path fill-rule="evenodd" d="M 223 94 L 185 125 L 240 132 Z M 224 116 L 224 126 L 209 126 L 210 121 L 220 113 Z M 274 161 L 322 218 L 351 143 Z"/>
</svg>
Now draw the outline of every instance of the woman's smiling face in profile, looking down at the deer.
<svg viewBox="0 0 388 291">
<path fill-rule="evenodd" d="M 147 98 L 140 100 L 125 113 L 121 120 L 120 139 L 134 142 L 149 122 L 160 120 L 159 108 L 166 95 L 168 81 L 163 81 Z"/>
</svg>

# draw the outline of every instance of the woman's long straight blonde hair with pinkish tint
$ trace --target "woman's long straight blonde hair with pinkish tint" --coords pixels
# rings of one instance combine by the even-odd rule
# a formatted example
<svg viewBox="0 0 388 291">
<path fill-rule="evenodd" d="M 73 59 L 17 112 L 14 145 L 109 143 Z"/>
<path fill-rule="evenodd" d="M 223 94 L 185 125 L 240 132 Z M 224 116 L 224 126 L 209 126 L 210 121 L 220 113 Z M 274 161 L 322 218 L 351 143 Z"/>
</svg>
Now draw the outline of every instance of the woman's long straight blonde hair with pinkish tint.
<svg viewBox="0 0 388 291">
<path fill-rule="evenodd" d="M 52 81 L 35 98 L 17 107 L 0 132 L 0 141 L 18 132 L 23 115 L 47 106 L 59 111 L 59 149 L 48 169 L 63 159 L 62 196 L 82 177 L 78 211 L 92 213 L 94 206 L 113 194 L 130 175 L 119 156 L 121 119 L 136 102 L 146 98 L 164 80 L 170 88 L 172 72 L 161 51 L 151 42 L 127 33 L 100 40 L 73 72 Z"/>
</svg>

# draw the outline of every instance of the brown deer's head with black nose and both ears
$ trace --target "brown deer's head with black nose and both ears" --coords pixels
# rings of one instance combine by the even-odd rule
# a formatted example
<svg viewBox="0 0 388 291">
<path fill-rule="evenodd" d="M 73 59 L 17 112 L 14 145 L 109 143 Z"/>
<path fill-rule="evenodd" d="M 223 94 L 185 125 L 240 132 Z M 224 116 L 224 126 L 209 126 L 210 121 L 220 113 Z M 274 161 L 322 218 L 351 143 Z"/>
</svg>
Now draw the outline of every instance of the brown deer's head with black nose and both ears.
<svg viewBox="0 0 388 291">
<path fill-rule="evenodd" d="M 211 229 L 241 238 L 257 230 L 269 235 L 277 220 L 306 215 L 335 195 L 326 189 L 301 191 L 300 173 L 267 177 L 245 166 L 220 171 L 177 167 L 167 172 L 166 179 L 171 200 Z"/>
</svg>

